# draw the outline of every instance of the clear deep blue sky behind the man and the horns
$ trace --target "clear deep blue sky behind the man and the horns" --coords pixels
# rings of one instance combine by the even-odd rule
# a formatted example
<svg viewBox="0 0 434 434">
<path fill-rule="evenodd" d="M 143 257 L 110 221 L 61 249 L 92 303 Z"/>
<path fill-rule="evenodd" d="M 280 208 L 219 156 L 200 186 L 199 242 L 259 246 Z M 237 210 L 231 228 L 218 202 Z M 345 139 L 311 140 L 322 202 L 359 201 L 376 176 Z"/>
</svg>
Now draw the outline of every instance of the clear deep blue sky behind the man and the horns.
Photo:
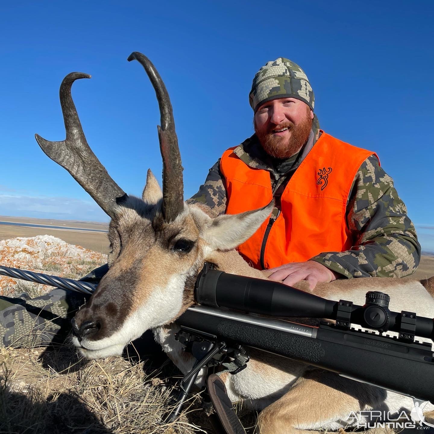
<svg viewBox="0 0 434 434">
<path fill-rule="evenodd" d="M 148 168 L 161 178 L 158 104 L 146 54 L 163 77 L 184 165 L 185 197 L 222 152 L 249 137 L 253 75 L 297 62 L 321 127 L 376 151 L 434 251 L 434 3 L 418 1 L 17 1 L 0 17 L 0 215 L 107 221 L 34 139 L 62 140 L 58 89 L 72 92 L 95 154 L 129 194 Z"/>
</svg>

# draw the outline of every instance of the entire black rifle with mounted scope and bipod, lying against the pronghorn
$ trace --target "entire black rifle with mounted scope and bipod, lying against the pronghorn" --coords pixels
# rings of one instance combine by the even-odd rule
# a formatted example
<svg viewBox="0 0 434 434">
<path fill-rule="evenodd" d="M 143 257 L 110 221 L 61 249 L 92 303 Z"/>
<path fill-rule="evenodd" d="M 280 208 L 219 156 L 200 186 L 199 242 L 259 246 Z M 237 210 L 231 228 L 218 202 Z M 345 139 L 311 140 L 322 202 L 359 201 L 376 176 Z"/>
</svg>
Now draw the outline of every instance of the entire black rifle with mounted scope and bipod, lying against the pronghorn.
<svg viewBox="0 0 434 434">
<path fill-rule="evenodd" d="M 197 278 L 195 296 L 200 304 L 176 320 L 181 328 L 177 339 L 199 361 L 202 354 L 197 348 L 227 343 L 224 357 L 214 355 L 217 360 L 208 361 L 208 366 L 222 365 L 225 358 L 238 359 L 232 373 L 239 372 L 248 361 L 240 346 L 245 345 L 434 402 L 434 352 L 430 343 L 414 340 L 415 336 L 434 340 L 433 319 L 415 312 L 391 312 L 390 297 L 385 293 L 369 291 L 365 305 L 358 306 L 348 300 L 323 299 L 283 283 L 224 273 L 206 263 Z M 335 324 L 320 321 L 313 327 L 222 308 L 267 316 L 330 319 Z M 357 331 L 352 324 L 373 330 Z M 398 332 L 398 336 L 389 336 L 388 331 Z M 241 357 L 240 362 L 243 355 L 245 361 Z M 192 371 L 199 372 L 197 368 Z M 188 381 L 193 384 L 191 375 Z M 187 387 L 183 381 L 180 404 Z M 169 420 L 176 418 L 178 407 Z"/>
</svg>

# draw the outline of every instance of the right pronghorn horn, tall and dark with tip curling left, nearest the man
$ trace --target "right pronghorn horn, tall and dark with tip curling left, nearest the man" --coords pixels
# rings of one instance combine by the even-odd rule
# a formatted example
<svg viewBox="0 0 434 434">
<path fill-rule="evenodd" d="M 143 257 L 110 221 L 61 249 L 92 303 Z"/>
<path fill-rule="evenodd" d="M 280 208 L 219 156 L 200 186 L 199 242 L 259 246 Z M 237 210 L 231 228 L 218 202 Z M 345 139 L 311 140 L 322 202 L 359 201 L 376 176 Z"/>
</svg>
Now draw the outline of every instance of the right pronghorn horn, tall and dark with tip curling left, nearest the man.
<svg viewBox="0 0 434 434">
<path fill-rule="evenodd" d="M 134 59 L 145 68 L 160 107 L 161 126 L 158 125 L 158 137 L 163 158 L 163 215 L 166 221 L 173 221 L 184 210 L 184 184 L 172 105 L 166 86 L 152 62 L 137 51 L 128 57 L 128 61 Z"/>
</svg>

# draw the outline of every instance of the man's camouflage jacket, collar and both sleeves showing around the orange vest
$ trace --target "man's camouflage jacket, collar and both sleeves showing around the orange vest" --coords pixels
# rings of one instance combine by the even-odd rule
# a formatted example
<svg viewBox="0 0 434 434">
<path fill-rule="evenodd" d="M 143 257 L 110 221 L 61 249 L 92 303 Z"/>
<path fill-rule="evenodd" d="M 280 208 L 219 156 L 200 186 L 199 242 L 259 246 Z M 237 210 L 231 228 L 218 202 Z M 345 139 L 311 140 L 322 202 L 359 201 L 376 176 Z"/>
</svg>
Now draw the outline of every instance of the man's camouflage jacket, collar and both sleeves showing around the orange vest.
<svg viewBox="0 0 434 434">
<path fill-rule="evenodd" d="M 319 137 L 318 120 L 295 164 L 284 173 L 284 163 L 276 164 L 261 147 L 256 135 L 243 141 L 234 153 L 253 168 L 270 172 L 273 191 L 292 176 Z M 286 168 L 287 169 L 287 168 Z M 210 168 L 199 191 L 188 201 L 207 204 L 218 214 L 226 210 L 225 180 L 220 160 Z M 187 202 L 188 202 L 187 201 Z M 273 210 L 277 214 L 278 210 Z M 347 202 L 348 227 L 358 233 L 357 244 L 345 252 L 323 252 L 311 258 L 342 277 L 403 277 L 416 270 L 421 256 L 416 231 L 407 216 L 407 208 L 398 196 L 393 180 L 371 155 L 355 175 Z"/>
</svg>

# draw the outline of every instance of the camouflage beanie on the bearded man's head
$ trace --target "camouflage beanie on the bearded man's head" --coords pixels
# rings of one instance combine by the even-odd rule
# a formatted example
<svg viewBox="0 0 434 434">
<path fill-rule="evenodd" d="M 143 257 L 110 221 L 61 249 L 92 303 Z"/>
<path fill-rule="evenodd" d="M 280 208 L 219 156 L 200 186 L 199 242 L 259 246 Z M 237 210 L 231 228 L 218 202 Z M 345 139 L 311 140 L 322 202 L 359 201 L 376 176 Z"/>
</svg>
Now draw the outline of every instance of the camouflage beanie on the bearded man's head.
<svg viewBox="0 0 434 434">
<path fill-rule="evenodd" d="M 315 96 L 304 71 L 291 60 L 279 57 L 256 72 L 249 101 L 256 112 L 264 102 L 285 97 L 306 102 L 312 111 L 315 106 Z"/>
</svg>

